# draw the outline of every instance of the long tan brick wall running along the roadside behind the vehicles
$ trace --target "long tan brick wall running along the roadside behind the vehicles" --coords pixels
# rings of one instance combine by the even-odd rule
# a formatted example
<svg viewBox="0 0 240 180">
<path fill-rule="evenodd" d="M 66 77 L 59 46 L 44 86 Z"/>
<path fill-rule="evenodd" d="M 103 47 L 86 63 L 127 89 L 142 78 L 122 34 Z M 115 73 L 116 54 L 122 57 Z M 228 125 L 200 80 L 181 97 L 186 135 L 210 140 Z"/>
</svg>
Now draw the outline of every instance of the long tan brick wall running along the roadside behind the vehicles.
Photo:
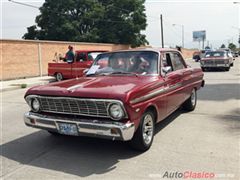
<svg viewBox="0 0 240 180">
<path fill-rule="evenodd" d="M 48 63 L 65 55 L 68 45 L 75 50 L 121 50 L 128 45 L 56 41 L 0 40 L 0 80 L 47 75 Z M 185 58 L 194 50 L 182 49 Z"/>
</svg>

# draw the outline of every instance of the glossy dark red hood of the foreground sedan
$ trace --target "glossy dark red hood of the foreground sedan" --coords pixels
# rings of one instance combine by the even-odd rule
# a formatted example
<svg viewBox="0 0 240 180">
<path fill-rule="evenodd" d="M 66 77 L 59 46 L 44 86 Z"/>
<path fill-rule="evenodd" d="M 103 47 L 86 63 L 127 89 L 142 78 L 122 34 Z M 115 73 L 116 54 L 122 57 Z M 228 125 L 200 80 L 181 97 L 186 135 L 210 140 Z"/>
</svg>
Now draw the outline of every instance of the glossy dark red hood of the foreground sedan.
<svg viewBox="0 0 240 180">
<path fill-rule="evenodd" d="M 127 101 L 130 94 L 155 84 L 159 76 L 82 77 L 29 89 L 26 95 L 106 98 Z"/>
</svg>

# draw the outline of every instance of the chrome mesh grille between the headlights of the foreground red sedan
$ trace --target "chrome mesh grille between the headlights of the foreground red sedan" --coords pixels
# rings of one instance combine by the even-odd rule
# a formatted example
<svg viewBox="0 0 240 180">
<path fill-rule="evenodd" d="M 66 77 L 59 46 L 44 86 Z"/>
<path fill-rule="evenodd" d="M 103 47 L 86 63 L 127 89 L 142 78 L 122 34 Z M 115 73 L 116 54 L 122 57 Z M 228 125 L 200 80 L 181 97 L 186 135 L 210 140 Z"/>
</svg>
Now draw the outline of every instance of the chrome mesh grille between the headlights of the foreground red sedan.
<svg viewBox="0 0 240 180">
<path fill-rule="evenodd" d="M 38 97 L 43 112 L 109 117 L 107 108 L 111 101 L 67 97 Z"/>
</svg>

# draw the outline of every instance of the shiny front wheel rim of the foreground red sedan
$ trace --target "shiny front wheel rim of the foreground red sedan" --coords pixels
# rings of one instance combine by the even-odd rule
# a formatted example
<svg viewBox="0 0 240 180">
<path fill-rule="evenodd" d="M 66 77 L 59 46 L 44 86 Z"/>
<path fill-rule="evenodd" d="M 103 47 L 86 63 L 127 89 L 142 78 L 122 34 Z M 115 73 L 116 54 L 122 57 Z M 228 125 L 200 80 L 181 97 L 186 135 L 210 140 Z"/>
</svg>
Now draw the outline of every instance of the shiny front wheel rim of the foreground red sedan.
<svg viewBox="0 0 240 180">
<path fill-rule="evenodd" d="M 153 118 L 147 114 L 143 119 L 143 140 L 145 144 L 150 144 L 153 137 Z"/>
</svg>

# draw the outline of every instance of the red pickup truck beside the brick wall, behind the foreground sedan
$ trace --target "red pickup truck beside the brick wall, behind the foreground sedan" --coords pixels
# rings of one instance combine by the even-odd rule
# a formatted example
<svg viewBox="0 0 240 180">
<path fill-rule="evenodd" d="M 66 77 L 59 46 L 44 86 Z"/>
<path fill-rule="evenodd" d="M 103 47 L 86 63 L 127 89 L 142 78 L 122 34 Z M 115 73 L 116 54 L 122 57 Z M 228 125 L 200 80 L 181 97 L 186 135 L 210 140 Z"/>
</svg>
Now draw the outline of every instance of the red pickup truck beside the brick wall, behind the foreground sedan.
<svg viewBox="0 0 240 180">
<path fill-rule="evenodd" d="M 48 75 L 54 76 L 57 81 L 83 76 L 83 71 L 89 68 L 96 56 L 104 50 L 80 50 L 75 52 L 72 63 L 65 61 L 48 63 Z"/>
</svg>

